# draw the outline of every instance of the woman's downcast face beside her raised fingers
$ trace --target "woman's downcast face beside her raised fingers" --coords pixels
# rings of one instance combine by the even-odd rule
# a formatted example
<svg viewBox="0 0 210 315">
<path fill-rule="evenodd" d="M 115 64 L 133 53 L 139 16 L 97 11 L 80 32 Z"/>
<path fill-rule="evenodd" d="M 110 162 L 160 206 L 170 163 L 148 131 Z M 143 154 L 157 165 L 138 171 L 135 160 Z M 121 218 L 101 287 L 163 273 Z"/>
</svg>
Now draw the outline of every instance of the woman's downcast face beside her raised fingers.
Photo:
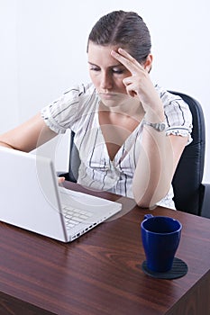
<svg viewBox="0 0 210 315">
<path fill-rule="evenodd" d="M 89 75 L 102 102 L 107 106 L 120 105 L 127 97 L 123 78 L 131 76 L 130 71 L 111 56 L 114 46 L 88 44 Z"/>
</svg>

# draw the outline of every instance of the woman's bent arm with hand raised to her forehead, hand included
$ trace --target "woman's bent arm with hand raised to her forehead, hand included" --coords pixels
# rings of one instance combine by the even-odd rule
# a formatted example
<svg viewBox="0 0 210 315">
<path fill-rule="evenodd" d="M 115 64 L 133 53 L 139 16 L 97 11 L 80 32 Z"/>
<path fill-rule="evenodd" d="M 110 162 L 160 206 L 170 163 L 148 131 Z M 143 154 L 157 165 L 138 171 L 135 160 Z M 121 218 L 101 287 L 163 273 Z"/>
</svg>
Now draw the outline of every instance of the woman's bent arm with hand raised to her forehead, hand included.
<svg viewBox="0 0 210 315">
<path fill-rule="evenodd" d="M 144 120 L 165 121 L 160 95 L 149 76 L 152 56 L 149 55 L 143 65 L 123 49 L 112 51 L 112 56 L 131 72 L 131 76 L 123 79 L 123 84 L 127 94 L 140 99 Z M 132 181 L 134 199 L 139 206 L 152 207 L 166 196 L 186 144 L 187 137 L 167 136 L 165 130 L 143 125 L 142 149 Z"/>
</svg>

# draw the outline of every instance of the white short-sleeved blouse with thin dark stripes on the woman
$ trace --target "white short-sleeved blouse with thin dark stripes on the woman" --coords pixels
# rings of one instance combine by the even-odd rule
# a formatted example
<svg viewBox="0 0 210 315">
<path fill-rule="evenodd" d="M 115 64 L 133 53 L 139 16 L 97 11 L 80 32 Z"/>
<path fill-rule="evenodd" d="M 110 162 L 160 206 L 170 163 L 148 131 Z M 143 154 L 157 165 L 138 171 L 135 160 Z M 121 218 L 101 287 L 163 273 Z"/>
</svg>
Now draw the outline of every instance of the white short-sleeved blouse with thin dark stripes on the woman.
<svg viewBox="0 0 210 315">
<path fill-rule="evenodd" d="M 191 142 L 192 116 L 187 103 L 178 95 L 155 85 L 160 94 L 167 123 L 166 134 L 188 137 Z M 78 183 L 89 188 L 107 190 L 132 197 L 132 176 L 141 150 L 140 123 L 124 141 L 113 160 L 107 152 L 105 139 L 98 121 L 100 98 L 94 85 L 78 85 L 62 94 L 54 103 L 41 110 L 41 116 L 51 130 L 64 133 L 73 130 L 81 164 Z M 158 204 L 174 208 L 172 186 Z"/>
</svg>

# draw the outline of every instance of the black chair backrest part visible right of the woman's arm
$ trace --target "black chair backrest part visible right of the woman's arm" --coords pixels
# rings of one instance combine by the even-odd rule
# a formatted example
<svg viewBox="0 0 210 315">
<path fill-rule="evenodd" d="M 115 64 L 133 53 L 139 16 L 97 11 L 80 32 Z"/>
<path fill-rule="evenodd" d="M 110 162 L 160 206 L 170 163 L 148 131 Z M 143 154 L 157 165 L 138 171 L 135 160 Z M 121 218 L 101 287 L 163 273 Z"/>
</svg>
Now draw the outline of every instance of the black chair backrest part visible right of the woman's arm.
<svg viewBox="0 0 210 315">
<path fill-rule="evenodd" d="M 205 163 L 204 113 L 200 103 L 193 97 L 169 92 L 179 95 L 188 104 L 193 116 L 193 141 L 184 149 L 172 181 L 174 202 L 178 210 L 200 215 Z"/>
</svg>

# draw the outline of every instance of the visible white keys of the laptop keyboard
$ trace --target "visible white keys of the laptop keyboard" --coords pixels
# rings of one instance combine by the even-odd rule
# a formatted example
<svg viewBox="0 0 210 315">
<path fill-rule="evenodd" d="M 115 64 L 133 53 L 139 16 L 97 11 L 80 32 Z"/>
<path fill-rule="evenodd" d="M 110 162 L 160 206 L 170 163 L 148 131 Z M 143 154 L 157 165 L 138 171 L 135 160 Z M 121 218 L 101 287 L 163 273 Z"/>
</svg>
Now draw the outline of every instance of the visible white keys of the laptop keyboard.
<svg viewBox="0 0 210 315">
<path fill-rule="evenodd" d="M 62 204 L 64 218 L 68 229 L 74 228 L 79 223 L 90 218 L 93 213 L 86 210 L 72 208 L 71 206 Z"/>
</svg>

